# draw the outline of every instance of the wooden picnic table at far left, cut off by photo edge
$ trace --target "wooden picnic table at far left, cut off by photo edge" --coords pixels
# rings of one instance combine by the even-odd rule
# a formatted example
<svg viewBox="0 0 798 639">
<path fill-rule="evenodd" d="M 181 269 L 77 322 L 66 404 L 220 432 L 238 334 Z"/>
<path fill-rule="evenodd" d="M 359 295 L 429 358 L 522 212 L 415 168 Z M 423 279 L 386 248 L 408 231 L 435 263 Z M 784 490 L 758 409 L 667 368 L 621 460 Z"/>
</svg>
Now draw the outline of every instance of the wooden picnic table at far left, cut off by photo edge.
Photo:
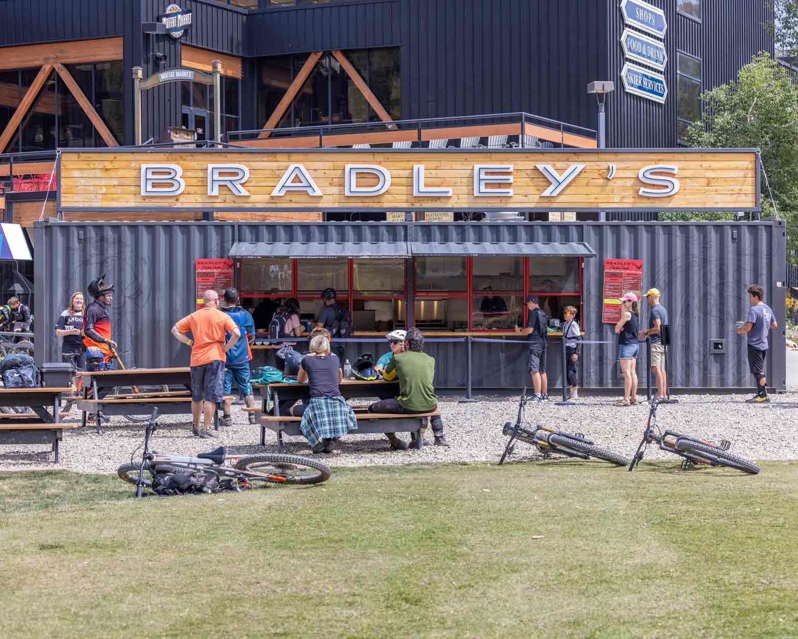
<svg viewBox="0 0 798 639">
<path fill-rule="evenodd" d="M 61 395 L 73 387 L 0 388 L 0 406 L 30 407 L 33 413 L 0 413 L 0 444 L 49 444 L 59 463 L 58 443 L 64 430 L 77 423 L 61 422 Z"/>
</svg>

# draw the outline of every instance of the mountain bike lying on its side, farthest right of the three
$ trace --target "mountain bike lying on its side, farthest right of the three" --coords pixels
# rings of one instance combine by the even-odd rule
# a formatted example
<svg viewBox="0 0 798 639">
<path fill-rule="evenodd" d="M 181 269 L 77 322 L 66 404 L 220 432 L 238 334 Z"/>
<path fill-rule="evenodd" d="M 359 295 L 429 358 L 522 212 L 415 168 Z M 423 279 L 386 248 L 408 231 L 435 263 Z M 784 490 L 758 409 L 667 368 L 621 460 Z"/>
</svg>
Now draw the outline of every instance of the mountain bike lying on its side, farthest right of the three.
<svg viewBox="0 0 798 639">
<path fill-rule="evenodd" d="M 634 466 L 640 463 L 648 445 L 654 443 L 660 447 L 660 450 L 667 450 L 669 453 L 685 458 L 681 462 L 681 468 L 684 470 L 697 464 L 705 464 L 706 466 L 730 466 L 751 474 L 759 472 L 759 466 L 755 463 L 729 453 L 731 443 L 726 440 L 716 445 L 690 435 L 682 435 L 676 431 L 660 431 L 657 426 L 657 405 L 658 401 L 652 399 L 646 432 L 643 433 L 642 442 L 629 465 L 630 472 L 634 470 Z"/>
</svg>

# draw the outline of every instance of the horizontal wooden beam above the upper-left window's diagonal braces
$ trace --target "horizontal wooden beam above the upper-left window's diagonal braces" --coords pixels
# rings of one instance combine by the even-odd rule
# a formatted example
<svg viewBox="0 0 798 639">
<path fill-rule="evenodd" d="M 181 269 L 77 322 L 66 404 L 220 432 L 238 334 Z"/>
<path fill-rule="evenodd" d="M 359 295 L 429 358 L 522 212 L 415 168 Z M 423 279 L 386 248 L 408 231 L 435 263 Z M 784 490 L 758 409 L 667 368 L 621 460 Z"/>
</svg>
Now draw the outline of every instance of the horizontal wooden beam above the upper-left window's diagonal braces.
<svg viewBox="0 0 798 639">
<path fill-rule="evenodd" d="M 99 38 L 75 42 L 48 42 L 45 45 L 4 46 L 0 71 L 26 69 L 53 62 L 109 62 L 122 59 L 122 38 Z"/>
</svg>

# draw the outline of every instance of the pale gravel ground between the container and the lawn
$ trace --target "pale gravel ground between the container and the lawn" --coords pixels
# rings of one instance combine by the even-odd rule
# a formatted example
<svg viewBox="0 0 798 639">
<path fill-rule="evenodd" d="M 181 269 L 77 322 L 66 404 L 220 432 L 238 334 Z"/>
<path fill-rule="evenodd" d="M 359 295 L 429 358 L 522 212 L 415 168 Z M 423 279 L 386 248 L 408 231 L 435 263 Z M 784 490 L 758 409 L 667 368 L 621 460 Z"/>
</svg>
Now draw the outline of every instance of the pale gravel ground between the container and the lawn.
<svg viewBox="0 0 798 639">
<path fill-rule="evenodd" d="M 750 395 L 683 395 L 678 404 L 662 406 L 660 427 L 719 441 L 729 439 L 731 450 L 751 459 L 798 459 L 798 387 L 784 395 L 772 395 L 768 405 L 745 403 Z M 637 449 L 648 416 L 648 404 L 615 407 L 614 397 L 584 397 L 572 407 L 553 402 L 530 404 L 527 419 L 571 432 L 583 432 L 599 446 L 631 456 Z M 638 398 L 639 399 L 642 398 Z M 390 450 L 382 435 L 352 435 L 332 455 L 320 457 L 330 466 L 373 466 L 415 462 L 495 462 L 507 442 L 501 433 L 505 422 L 515 422 L 518 399 L 480 397 L 478 403 L 441 399 L 449 448 L 429 446 L 423 450 Z M 80 414 L 73 412 L 72 420 Z M 233 426 L 223 428 L 219 439 L 199 440 L 191 435 L 191 417 L 164 416 L 152 440 L 152 448 L 163 453 L 196 454 L 226 446 L 233 454 L 276 451 L 276 437 L 267 431 L 267 446 L 258 445 L 259 427 L 247 423 L 247 414 L 233 407 Z M 400 435 L 409 439 L 409 435 Z M 428 431 L 428 439 L 432 433 Z M 93 428 L 68 431 L 61 443 L 61 468 L 80 472 L 112 473 L 127 462 L 144 441 L 144 426 L 117 417 L 105 425 L 103 435 Z M 292 452 L 310 454 L 303 438 L 286 438 Z M 140 457 L 139 457 L 140 458 Z M 512 459 L 539 458 L 525 443 L 516 446 Z M 646 459 L 681 461 L 674 455 L 650 447 Z M 0 446 L 0 470 L 57 468 L 45 446 Z"/>
</svg>

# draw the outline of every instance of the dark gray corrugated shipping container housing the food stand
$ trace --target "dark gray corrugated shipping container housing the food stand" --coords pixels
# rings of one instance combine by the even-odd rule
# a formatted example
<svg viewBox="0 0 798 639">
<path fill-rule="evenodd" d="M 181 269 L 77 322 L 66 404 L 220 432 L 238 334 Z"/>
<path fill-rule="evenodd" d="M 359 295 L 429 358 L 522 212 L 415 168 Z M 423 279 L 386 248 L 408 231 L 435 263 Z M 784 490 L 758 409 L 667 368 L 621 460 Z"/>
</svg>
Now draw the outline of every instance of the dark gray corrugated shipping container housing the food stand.
<svg viewBox="0 0 798 639">
<path fill-rule="evenodd" d="M 235 222 L 38 222 L 35 229 L 35 316 L 37 359 L 60 359 L 53 326 L 74 291 L 107 272 L 117 292 L 111 310 L 114 339 L 130 366 L 188 363 L 188 349 L 169 334 L 177 319 L 194 310 L 194 260 L 227 257 L 236 241 L 246 242 L 584 242 L 596 252 L 583 261 L 583 329 L 586 339 L 607 343 L 584 347 L 585 387 L 618 387 L 616 336 L 602 324 L 603 260 L 643 260 L 642 288 L 662 291 L 670 313 L 670 384 L 677 388 L 753 387 L 745 338 L 735 321 L 749 308 L 745 289 L 761 284 L 776 313 L 768 383 L 786 387 L 784 343 L 785 226 L 757 222 L 588 222 L 588 223 L 235 223 Z M 647 305 L 642 304 L 646 321 Z M 527 349 L 508 343 L 474 343 L 475 388 L 520 387 L 528 383 Z M 724 340 L 722 352 L 713 341 Z M 347 354 L 375 355 L 384 340 L 349 344 Z M 464 387 L 464 343 L 429 343 L 437 359 L 438 387 Z M 261 351 L 262 352 L 262 351 Z M 645 383 L 648 363 L 638 359 Z M 551 342 L 550 385 L 559 384 L 559 343 Z"/>
</svg>

